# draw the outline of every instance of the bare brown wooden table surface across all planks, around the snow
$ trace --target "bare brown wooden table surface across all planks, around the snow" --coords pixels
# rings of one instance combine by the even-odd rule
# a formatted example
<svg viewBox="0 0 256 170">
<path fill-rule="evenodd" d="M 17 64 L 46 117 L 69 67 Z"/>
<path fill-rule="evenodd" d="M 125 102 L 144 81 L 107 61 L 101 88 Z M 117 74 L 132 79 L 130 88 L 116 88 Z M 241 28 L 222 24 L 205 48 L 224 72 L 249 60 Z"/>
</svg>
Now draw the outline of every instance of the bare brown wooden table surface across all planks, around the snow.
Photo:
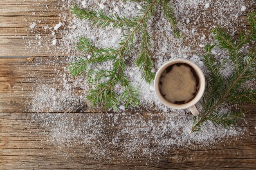
<svg viewBox="0 0 256 170">
<path fill-rule="evenodd" d="M 135 157 L 125 161 L 124 157 L 118 155 L 91 160 L 85 157 L 89 151 L 82 146 L 67 150 L 71 155 L 67 157 L 58 152 L 58 148 L 47 144 L 47 136 L 43 133 L 47 131 L 45 127 L 41 127 L 40 122 L 36 121 L 27 123 L 31 115 L 41 113 L 29 112 L 27 105 L 38 83 L 50 84 L 56 77 L 52 74 L 54 68 L 58 67 L 58 70 L 64 72 L 65 62 L 61 61 L 65 60 L 65 54 L 58 50 L 54 53 L 47 50 L 31 52 L 26 47 L 38 32 L 43 38 L 51 33 L 48 30 L 42 33 L 42 26 L 58 24 L 61 20 L 58 14 L 65 11 L 62 9 L 63 3 L 62 0 L 0 0 L 0 170 L 256 169 L 255 105 L 241 106 L 244 110 L 251 111 L 246 115 L 248 131 L 238 140 L 237 137 L 229 137 L 209 148 L 176 148 L 170 154 L 159 156 L 157 160 Z M 36 14 L 32 15 L 32 11 Z M 41 23 L 30 32 L 29 24 L 34 20 L 41 20 Z M 202 31 L 205 33 L 204 29 Z M 57 37 L 61 38 L 58 34 Z M 43 38 L 42 42 L 47 41 Z M 53 60 L 58 61 L 54 66 L 49 64 Z M 22 91 L 22 88 L 25 90 Z M 67 110 L 55 110 L 54 113 L 65 111 Z M 106 117 L 106 113 L 99 112 L 101 111 L 85 111 L 83 114 L 102 114 Z M 115 131 L 115 127 L 112 130 Z"/>
</svg>

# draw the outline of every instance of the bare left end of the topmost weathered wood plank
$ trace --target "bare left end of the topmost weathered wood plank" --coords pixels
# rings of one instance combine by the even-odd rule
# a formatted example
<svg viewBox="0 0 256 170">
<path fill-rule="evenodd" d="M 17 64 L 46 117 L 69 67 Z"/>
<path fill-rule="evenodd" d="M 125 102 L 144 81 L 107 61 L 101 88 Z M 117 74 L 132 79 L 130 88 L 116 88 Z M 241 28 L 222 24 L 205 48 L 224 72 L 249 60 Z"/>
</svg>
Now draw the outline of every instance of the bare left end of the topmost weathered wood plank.
<svg viewBox="0 0 256 170">
<path fill-rule="evenodd" d="M 49 35 L 52 34 L 53 29 L 44 29 L 44 27 L 54 27 L 62 20 L 59 14 L 67 12 L 63 8 L 64 4 L 65 2 L 61 0 L 1 0 L 0 56 L 63 55 L 61 51 L 50 45 L 53 38 Z M 29 26 L 35 21 L 37 21 L 36 27 L 32 31 Z M 38 35 L 42 38 L 42 46 L 39 50 L 35 50 L 33 48 L 38 46 L 35 41 Z M 60 38 L 58 32 L 56 38 Z"/>
</svg>

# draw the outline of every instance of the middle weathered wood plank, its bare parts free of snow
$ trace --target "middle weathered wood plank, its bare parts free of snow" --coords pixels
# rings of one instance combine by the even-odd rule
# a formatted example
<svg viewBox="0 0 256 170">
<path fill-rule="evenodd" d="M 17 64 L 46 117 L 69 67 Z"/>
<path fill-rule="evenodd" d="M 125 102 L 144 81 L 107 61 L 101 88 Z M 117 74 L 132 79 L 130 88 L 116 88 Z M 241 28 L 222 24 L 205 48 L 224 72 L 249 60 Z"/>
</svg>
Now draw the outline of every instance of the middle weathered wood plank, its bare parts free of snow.
<svg viewBox="0 0 256 170">
<path fill-rule="evenodd" d="M 50 85 L 56 90 L 63 90 L 63 74 L 67 66 L 66 57 L 29 57 L 29 58 L 0 58 L 0 112 L 24 112 L 29 111 L 31 99 L 36 95 L 36 91 L 42 91 L 40 87 Z M 68 80 L 67 80 L 68 81 Z M 74 81 L 74 80 L 72 80 Z M 72 84 L 72 81 L 69 83 Z M 81 84 L 83 86 L 83 84 Z M 39 88 L 39 89 L 38 89 Z M 70 92 L 79 96 L 84 90 L 71 88 Z M 68 103 L 67 103 L 68 105 Z M 81 106 L 85 108 L 85 106 Z M 52 112 L 79 111 L 74 110 L 51 110 Z M 255 106 L 241 106 L 245 110 L 253 109 Z M 248 108 L 249 107 L 249 108 Z M 57 108 L 56 108 L 57 109 Z M 98 108 L 99 109 L 99 108 Z M 140 112 L 157 112 L 153 108 L 139 108 Z M 41 110 L 47 111 L 47 110 Z M 88 111 L 88 110 L 83 110 Z M 92 111 L 92 110 L 90 110 Z M 106 110 L 93 110 L 101 112 Z M 130 110 L 136 112 L 136 110 Z"/>
</svg>

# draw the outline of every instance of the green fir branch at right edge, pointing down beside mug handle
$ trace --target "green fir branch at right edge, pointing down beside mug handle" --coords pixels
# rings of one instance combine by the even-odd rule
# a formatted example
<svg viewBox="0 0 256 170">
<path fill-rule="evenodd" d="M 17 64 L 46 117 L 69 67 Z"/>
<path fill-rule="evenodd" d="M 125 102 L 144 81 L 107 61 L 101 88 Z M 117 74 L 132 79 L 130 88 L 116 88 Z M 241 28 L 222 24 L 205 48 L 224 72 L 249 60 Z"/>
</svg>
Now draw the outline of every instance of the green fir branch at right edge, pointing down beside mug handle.
<svg viewBox="0 0 256 170">
<path fill-rule="evenodd" d="M 250 23 L 252 29 L 255 28 L 256 17 L 255 14 L 249 15 L 254 16 L 250 18 Z M 249 19 L 249 18 L 248 18 Z M 240 117 L 240 112 L 238 115 L 232 113 L 230 114 L 232 117 L 228 117 L 228 115 L 218 115 L 213 114 L 218 111 L 219 106 L 224 103 L 239 103 L 239 102 L 249 102 L 255 103 L 255 90 L 242 90 L 239 89 L 243 84 L 250 78 L 253 78 L 255 75 L 255 67 L 256 67 L 256 47 L 254 46 L 245 58 L 245 62 L 243 61 L 244 57 L 240 48 L 246 44 L 247 42 L 253 40 L 254 31 L 250 31 L 250 38 L 245 33 L 241 33 L 238 38 L 238 43 L 235 43 L 235 40 L 232 40 L 229 34 L 226 34 L 225 31 L 220 30 L 219 27 L 212 30 L 214 38 L 217 41 L 217 44 L 228 51 L 229 60 L 233 63 L 232 66 L 236 68 L 236 71 L 231 73 L 226 79 L 223 79 L 223 84 L 219 84 L 220 80 L 216 73 L 217 66 L 213 62 L 213 56 L 209 55 L 209 46 L 206 47 L 207 55 L 204 56 L 204 64 L 210 71 L 210 79 L 208 81 L 207 86 L 210 86 L 210 89 L 213 88 L 218 89 L 217 95 L 211 96 L 212 102 L 207 102 L 207 95 L 211 93 L 209 88 L 206 90 L 203 99 L 203 112 L 200 114 L 198 118 L 193 119 L 193 125 L 191 128 L 191 132 L 195 132 L 201 129 L 204 123 L 207 120 L 213 121 L 217 124 L 222 125 L 224 128 L 229 128 L 232 124 L 235 123 L 238 117 Z M 213 86 L 216 83 L 216 86 Z M 221 89 L 222 88 L 222 89 Z M 207 96 L 207 97 L 206 97 Z M 208 97 L 209 98 L 209 97 Z M 223 120 L 221 120 L 223 119 Z"/>
</svg>

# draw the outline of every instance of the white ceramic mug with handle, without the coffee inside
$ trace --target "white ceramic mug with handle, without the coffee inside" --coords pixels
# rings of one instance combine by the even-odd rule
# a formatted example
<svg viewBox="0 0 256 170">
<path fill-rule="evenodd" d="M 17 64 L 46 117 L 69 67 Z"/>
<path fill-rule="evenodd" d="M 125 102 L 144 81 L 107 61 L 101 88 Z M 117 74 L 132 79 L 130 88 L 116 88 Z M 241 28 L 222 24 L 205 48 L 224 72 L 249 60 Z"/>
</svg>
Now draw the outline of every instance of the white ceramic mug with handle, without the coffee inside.
<svg viewBox="0 0 256 170">
<path fill-rule="evenodd" d="M 171 66 L 173 64 L 176 63 L 186 63 L 189 64 L 190 66 L 192 66 L 195 69 L 196 74 L 198 75 L 199 78 L 199 89 L 198 89 L 198 93 L 195 95 L 195 98 L 193 98 L 190 102 L 187 102 L 185 104 L 174 104 L 171 102 L 168 102 L 166 99 L 164 99 L 164 97 L 161 95 L 160 90 L 159 90 L 159 79 L 163 73 L 163 71 L 168 67 Z M 170 60 L 168 62 L 166 62 L 165 64 L 163 64 L 159 70 L 157 71 L 157 74 L 155 75 L 155 82 L 154 82 L 154 86 L 155 86 L 155 93 L 157 95 L 157 98 L 160 100 L 160 102 L 162 102 L 162 104 L 164 104 L 165 106 L 168 106 L 169 108 L 173 108 L 173 109 L 185 109 L 185 108 L 189 108 L 191 113 L 194 116 L 199 115 L 199 111 L 196 108 L 195 104 L 201 99 L 202 95 L 204 94 L 204 89 L 205 89 L 205 78 L 204 78 L 204 74 L 202 72 L 202 70 L 198 67 L 198 65 L 196 65 L 195 63 L 186 60 L 186 59 L 174 59 L 174 60 Z"/>
</svg>

